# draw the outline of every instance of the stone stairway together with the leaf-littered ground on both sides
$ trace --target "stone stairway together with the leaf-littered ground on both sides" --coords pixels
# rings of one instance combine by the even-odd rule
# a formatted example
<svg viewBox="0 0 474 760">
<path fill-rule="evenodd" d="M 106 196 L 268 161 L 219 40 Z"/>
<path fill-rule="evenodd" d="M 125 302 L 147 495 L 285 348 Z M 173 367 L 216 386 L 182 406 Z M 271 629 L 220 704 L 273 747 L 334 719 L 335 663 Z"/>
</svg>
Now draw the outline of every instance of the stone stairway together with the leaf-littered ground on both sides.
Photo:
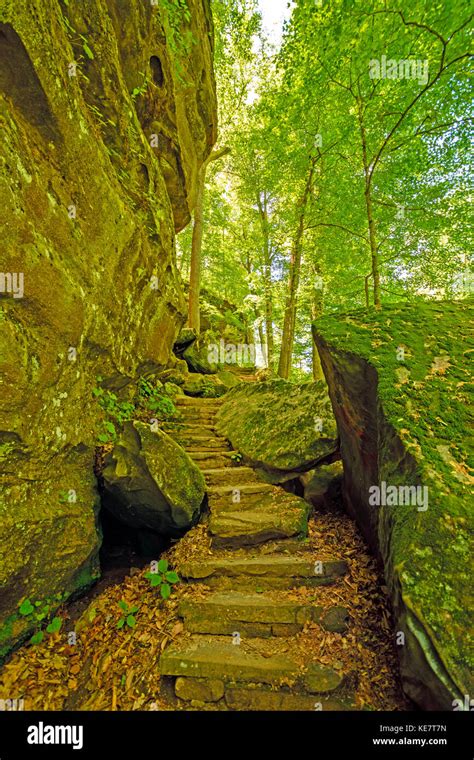
<svg viewBox="0 0 474 760">
<path fill-rule="evenodd" d="M 309 514 L 242 465 L 215 431 L 221 404 L 182 396 L 167 425 L 208 493 L 200 523 L 162 555 L 182 581 L 171 598 L 131 568 L 73 622 L 64 608 L 74 644 L 14 653 L 3 688 L 46 709 L 408 708 L 383 580 L 355 524 Z M 123 602 L 137 607 L 133 630 L 117 629 Z"/>
</svg>

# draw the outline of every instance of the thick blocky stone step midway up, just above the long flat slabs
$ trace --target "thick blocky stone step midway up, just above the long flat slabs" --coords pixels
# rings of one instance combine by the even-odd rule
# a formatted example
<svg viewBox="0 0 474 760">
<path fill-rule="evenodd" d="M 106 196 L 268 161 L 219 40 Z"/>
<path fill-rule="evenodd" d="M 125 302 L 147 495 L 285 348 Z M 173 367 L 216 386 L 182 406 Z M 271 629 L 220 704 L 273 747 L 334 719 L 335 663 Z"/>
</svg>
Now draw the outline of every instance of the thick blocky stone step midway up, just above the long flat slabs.
<svg viewBox="0 0 474 760">
<path fill-rule="evenodd" d="M 216 548 L 255 546 L 307 533 L 309 504 L 299 496 L 266 483 L 229 487 L 225 495 L 217 490 L 208 489 L 209 532 Z"/>
</svg>

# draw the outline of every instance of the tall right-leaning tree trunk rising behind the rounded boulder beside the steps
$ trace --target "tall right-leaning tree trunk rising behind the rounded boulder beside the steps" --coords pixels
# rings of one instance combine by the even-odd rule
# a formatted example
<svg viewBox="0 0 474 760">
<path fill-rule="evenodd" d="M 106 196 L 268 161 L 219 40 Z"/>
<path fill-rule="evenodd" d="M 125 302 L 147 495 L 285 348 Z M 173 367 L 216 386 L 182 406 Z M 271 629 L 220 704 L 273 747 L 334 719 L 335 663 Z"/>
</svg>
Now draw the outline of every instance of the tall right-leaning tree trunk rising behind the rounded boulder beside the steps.
<svg viewBox="0 0 474 760">
<path fill-rule="evenodd" d="M 293 238 L 291 250 L 290 279 L 288 286 L 288 296 L 285 306 L 285 318 L 283 321 L 283 334 L 281 339 L 280 361 L 278 363 L 278 374 L 280 377 L 288 380 L 291 369 L 291 358 L 293 356 L 293 343 L 295 339 L 295 322 L 296 322 L 296 302 L 298 297 L 298 287 L 300 282 L 301 254 L 303 249 L 304 219 L 306 204 L 311 192 L 313 182 L 314 167 L 316 160 L 311 159 L 308 178 L 303 191 L 303 195 L 298 203 L 298 226 L 295 237 Z"/>
</svg>

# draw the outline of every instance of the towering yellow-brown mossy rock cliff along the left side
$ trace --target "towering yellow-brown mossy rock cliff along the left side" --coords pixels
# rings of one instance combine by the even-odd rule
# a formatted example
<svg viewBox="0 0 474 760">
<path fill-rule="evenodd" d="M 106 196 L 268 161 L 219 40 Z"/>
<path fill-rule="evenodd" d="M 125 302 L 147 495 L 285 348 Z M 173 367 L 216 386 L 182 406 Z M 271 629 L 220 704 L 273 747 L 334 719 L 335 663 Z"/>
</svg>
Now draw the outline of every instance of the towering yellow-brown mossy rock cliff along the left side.
<svg viewBox="0 0 474 760">
<path fill-rule="evenodd" d="M 97 576 L 100 374 L 164 368 L 216 134 L 208 0 L 0 4 L 0 654 Z M 54 602 L 51 602 L 54 605 Z"/>
</svg>

